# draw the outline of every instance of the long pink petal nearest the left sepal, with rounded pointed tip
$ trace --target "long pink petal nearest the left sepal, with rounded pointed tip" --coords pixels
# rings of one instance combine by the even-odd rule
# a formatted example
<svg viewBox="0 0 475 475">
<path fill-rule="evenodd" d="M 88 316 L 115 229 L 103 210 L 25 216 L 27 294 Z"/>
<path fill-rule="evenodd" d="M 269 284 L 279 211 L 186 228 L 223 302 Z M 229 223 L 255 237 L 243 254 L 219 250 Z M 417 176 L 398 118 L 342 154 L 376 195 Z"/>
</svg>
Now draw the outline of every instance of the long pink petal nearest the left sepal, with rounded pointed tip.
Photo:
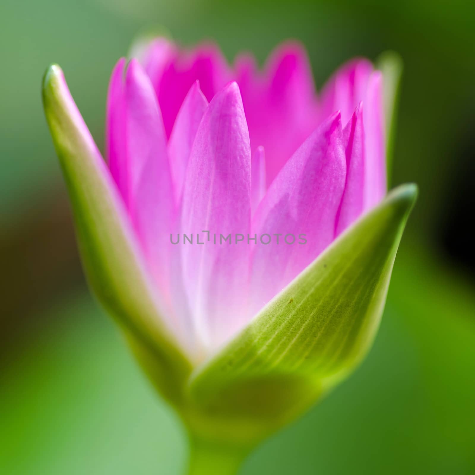
<svg viewBox="0 0 475 475">
<path fill-rule="evenodd" d="M 142 66 L 132 60 L 125 79 L 130 214 L 162 290 L 173 231 L 173 190 L 160 109 Z"/>
</svg>

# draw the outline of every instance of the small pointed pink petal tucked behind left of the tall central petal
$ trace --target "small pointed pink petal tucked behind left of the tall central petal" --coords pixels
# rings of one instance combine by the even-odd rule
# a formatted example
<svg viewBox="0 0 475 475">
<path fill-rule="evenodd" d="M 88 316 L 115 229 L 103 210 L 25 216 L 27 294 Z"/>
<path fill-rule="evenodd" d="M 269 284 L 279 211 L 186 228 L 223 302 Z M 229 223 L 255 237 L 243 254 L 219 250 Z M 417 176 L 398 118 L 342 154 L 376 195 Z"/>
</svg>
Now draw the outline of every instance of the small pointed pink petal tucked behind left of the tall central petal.
<svg viewBox="0 0 475 475">
<path fill-rule="evenodd" d="M 179 202 L 183 191 L 191 146 L 207 107 L 208 101 L 199 89 L 199 82 L 195 81 L 181 105 L 168 142 L 171 178 L 177 202 Z"/>
</svg>

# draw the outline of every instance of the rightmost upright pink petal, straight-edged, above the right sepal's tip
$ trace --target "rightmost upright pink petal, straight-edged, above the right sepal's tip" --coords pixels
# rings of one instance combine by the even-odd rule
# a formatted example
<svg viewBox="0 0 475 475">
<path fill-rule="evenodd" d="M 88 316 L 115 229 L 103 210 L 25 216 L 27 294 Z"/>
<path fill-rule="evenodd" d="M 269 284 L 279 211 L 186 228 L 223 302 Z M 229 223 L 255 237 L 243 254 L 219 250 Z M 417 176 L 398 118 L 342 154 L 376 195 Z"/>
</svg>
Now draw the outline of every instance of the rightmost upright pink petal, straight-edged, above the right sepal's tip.
<svg viewBox="0 0 475 475">
<path fill-rule="evenodd" d="M 375 71 L 369 81 L 364 113 L 365 130 L 365 200 L 370 209 L 386 195 L 386 145 L 382 74 Z"/>
</svg>

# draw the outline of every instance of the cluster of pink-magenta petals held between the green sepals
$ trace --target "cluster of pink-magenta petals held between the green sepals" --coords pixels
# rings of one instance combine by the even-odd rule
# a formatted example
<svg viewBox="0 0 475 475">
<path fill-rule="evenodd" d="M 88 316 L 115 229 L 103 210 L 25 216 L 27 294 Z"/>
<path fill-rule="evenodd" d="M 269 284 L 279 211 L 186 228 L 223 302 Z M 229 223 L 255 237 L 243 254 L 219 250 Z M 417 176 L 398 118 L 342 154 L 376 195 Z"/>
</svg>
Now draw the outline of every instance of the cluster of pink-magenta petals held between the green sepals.
<svg viewBox="0 0 475 475">
<path fill-rule="evenodd" d="M 386 193 L 382 76 L 343 66 L 315 93 L 302 47 L 263 71 L 214 46 L 166 39 L 121 59 L 106 157 L 156 282 L 187 344 L 222 344 Z M 306 235 L 305 245 L 172 245 L 171 233 Z M 203 236 L 203 235 L 202 235 Z"/>
</svg>

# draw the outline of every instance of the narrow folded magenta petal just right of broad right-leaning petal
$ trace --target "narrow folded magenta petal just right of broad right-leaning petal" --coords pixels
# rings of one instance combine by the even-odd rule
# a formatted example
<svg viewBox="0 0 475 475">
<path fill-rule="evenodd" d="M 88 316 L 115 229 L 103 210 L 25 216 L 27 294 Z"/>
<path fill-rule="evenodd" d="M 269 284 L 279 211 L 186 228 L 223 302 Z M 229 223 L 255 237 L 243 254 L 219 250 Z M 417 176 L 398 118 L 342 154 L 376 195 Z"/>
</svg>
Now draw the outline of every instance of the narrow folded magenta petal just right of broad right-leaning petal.
<svg viewBox="0 0 475 475">
<path fill-rule="evenodd" d="M 346 152 L 346 184 L 336 221 L 336 236 L 363 211 L 364 199 L 364 127 L 363 104 L 360 103 L 343 129 Z"/>
</svg>

